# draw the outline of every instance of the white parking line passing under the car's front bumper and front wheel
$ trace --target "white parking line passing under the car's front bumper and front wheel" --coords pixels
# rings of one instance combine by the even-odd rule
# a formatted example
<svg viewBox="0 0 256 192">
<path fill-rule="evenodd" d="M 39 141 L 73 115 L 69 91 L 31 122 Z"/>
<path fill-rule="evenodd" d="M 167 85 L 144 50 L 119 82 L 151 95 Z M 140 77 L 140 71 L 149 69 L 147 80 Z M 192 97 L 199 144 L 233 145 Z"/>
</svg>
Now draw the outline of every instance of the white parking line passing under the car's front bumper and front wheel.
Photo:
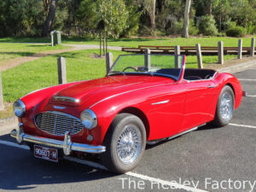
<svg viewBox="0 0 256 192">
<path fill-rule="evenodd" d="M 17 143 L 6 142 L 6 141 L 3 141 L 3 140 L 0 140 L 0 144 L 12 146 L 12 147 L 15 147 L 15 148 L 22 148 L 22 149 L 29 150 L 29 147 L 26 146 L 26 145 L 19 145 Z M 95 167 L 96 169 L 108 170 L 105 166 L 102 166 L 102 165 L 100 165 L 98 163 L 95 163 L 95 162 L 91 162 L 89 160 L 79 160 L 79 159 L 76 159 L 76 158 L 73 158 L 73 157 L 70 157 L 70 156 L 64 156 L 64 159 L 70 160 L 70 161 L 73 161 L 73 162 L 77 162 L 77 163 L 80 163 L 80 164 L 84 164 L 86 166 L 92 166 L 92 167 Z M 184 190 L 192 191 L 192 192 L 207 192 L 207 190 L 195 189 L 195 188 L 192 188 L 192 187 L 184 186 L 184 185 L 179 184 L 179 183 L 165 181 L 165 180 L 162 180 L 160 178 L 148 177 L 148 176 L 138 174 L 138 173 L 135 173 L 135 172 L 126 172 L 125 175 L 131 176 L 131 177 L 137 177 L 137 178 L 140 178 L 140 179 L 143 179 L 145 181 L 152 182 L 152 183 L 153 182 L 154 183 L 160 183 L 161 185 L 170 186 L 173 189 L 174 188 L 175 189 L 184 189 Z"/>
</svg>

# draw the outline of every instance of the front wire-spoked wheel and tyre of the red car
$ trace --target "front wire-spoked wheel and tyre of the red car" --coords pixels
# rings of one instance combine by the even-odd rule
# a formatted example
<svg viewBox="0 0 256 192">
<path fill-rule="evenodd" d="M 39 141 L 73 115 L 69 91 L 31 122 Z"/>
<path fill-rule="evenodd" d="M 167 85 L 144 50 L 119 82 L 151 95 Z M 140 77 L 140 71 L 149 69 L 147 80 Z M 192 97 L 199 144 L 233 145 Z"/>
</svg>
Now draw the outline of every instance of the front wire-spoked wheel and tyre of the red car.
<svg viewBox="0 0 256 192">
<path fill-rule="evenodd" d="M 130 134 L 131 131 L 132 133 L 136 134 Z M 127 143 L 124 144 L 125 138 L 130 138 L 131 136 L 133 139 L 137 138 L 137 142 L 133 143 L 133 140 L 129 140 L 129 143 L 127 140 Z M 123 141 L 123 143 L 121 143 L 121 141 Z M 106 146 L 106 152 L 102 154 L 102 161 L 103 164 L 110 171 L 118 173 L 125 173 L 131 171 L 143 158 L 143 154 L 145 151 L 146 131 L 145 126 L 143 125 L 143 121 L 137 116 L 130 113 L 117 114 L 109 127 L 103 144 Z M 123 146 L 128 149 L 125 150 Z M 125 159 L 122 159 L 122 157 L 120 156 L 120 152 L 118 152 L 118 147 L 121 148 L 119 149 L 119 151 L 127 154 L 136 151 L 135 154 L 131 155 L 131 162 L 125 162 Z M 131 149 L 131 151 L 128 153 L 127 151 L 129 151 L 129 148 Z M 127 159 L 129 160 L 129 158 Z"/>
</svg>

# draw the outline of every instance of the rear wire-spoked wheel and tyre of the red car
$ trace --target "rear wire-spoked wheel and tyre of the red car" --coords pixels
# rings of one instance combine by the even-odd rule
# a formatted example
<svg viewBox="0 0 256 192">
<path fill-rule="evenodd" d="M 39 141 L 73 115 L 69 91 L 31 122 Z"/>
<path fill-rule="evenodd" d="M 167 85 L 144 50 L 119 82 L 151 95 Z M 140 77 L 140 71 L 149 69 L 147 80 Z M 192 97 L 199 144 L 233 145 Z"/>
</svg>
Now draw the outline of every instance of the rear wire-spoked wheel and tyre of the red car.
<svg viewBox="0 0 256 192">
<path fill-rule="evenodd" d="M 230 98 L 230 107 L 226 106 L 226 113 L 222 112 L 221 106 L 224 99 Z M 218 103 L 216 106 L 215 117 L 211 122 L 212 125 L 223 127 L 228 125 L 233 117 L 233 111 L 235 108 L 235 96 L 234 92 L 229 85 L 225 85 L 218 96 Z"/>
</svg>

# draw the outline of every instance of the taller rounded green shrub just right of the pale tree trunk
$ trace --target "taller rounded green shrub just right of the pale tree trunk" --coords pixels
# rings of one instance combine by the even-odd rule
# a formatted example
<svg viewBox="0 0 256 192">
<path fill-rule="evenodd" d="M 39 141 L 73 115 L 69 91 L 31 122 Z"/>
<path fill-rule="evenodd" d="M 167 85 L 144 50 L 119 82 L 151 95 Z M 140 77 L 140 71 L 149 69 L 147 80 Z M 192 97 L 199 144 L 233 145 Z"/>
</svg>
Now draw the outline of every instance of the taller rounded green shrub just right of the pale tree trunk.
<svg viewBox="0 0 256 192">
<path fill-rule="evenodd" d="M 199 23 L 199 31 L 203 35 L 216 36 L 218 35 L 218 29 L 215 26 L 215 20 L 211 15 L 205 15 L 201 17 Z"/>
</svg>

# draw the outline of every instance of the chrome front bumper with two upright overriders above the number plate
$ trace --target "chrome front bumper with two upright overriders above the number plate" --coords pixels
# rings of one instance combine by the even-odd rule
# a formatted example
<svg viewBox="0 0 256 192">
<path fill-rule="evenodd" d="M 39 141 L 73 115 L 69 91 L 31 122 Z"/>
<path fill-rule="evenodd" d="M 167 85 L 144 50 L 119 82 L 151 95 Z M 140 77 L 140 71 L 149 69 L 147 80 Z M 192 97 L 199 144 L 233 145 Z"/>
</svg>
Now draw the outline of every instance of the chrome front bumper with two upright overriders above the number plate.
<svg viewBox="0 0 256 192">
<path fill-rule="evenodd" d="M 15 137 L 17 143 L 22 143 L 23 141 L 25 141 L 30 143 L 42 144 L 53 148 L 62 148 L 64 154 L 66 155 L 71 154 L 72 151 L 79 151 L 90 154 L 100 154 L 106 151 L 105 146 L 94 146 L 84 143 L 72 143 L 71 137 L 68 132 L 65 133 L 64 141 L 27 135 L 23 132 L 22 123 L 19 124 L 17 130 L 13 130 L 10 132 L 10 136 Z"/>
</svg>

